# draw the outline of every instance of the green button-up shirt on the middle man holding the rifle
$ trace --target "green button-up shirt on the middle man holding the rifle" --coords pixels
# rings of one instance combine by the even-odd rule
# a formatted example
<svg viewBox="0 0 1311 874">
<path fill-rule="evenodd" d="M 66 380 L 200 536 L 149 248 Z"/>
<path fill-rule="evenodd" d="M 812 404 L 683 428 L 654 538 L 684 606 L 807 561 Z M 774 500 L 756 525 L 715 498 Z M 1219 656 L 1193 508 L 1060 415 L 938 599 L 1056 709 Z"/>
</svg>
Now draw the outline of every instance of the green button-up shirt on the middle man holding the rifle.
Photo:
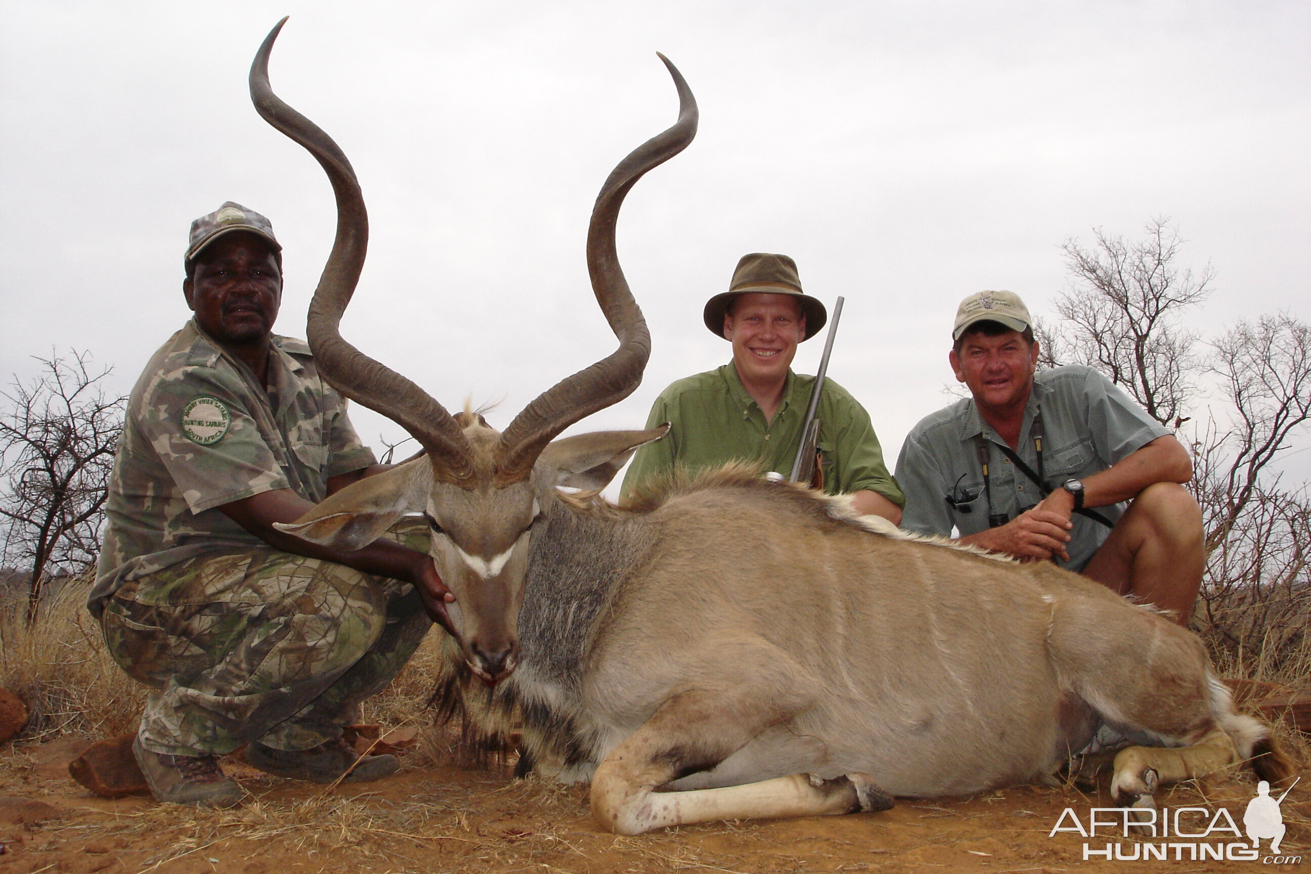
<svg viewBox="0 0 1311 874">
<path fill-rule="evenodd" d="M 814 381 L 814 376 L 789 370 L 783 401 L 771 422 L 766 422 L 760 405 L 747 394 L 732 362 L 673 383 L 656 398 L 646 418 L 649 428 L 669 422 L 670 432 L 637 449 L 624 477 L 623 495 L 675 465 L 699 470 L 734 460 L 759 461 L 767 470 L 787 476 L 801 443 L 801 421 Z M 850 494 L 868 489 L 897 506 L 906 502 L 884 464 L 869 414 L 847 389 L 825 380 L 815 417 L 826 491 Z"/>
</svg>

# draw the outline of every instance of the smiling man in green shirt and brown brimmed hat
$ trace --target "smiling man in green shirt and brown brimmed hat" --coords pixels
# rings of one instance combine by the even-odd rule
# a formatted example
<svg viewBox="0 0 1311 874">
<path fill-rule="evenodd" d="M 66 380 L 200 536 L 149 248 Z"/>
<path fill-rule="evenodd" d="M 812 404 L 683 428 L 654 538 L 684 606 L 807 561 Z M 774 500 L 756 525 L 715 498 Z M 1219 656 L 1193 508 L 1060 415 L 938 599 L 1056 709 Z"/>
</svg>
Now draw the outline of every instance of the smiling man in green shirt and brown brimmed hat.
<svg viewBox="0 0 1311 874">
<path fill-rule="evenodd" d="M 729 290 L 705 304 L 704 318 L 733 343 L 733 360 L 678 380 L 656 398 L 646 427 L 669 422 L 670 432 L 637 451 L 624 498 L 675 465 L 696 470 L 742 460 L 792 470 L 814 377 L 791 366 L 797 343 L 827 321 L 823 304 L 801 291 L 792 258 L 753 253 L 738 261 Z M 857 511 L 899 522 L 906 498 L 884 464 L 865 409 L 825 380 L 815 415 L 825 491 L 850 494 Z"/>
</svg>

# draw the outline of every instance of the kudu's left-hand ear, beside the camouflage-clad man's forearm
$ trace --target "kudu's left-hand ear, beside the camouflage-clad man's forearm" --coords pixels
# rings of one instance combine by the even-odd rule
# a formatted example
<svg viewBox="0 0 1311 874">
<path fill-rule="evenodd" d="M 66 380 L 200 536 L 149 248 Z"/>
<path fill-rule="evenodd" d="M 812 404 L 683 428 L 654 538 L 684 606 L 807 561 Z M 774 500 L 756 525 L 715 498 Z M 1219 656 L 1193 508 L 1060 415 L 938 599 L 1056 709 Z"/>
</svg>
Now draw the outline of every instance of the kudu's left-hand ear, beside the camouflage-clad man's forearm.
<svg viewBox="0 0 1311 874">
<path fill-rule="evenodd" d="M 354 550 L 378 540 L 408 512 L 423 510 L 433 484 L 427 456 L 353 482 L 278 531 L 334 549 Z"/>
</svg>

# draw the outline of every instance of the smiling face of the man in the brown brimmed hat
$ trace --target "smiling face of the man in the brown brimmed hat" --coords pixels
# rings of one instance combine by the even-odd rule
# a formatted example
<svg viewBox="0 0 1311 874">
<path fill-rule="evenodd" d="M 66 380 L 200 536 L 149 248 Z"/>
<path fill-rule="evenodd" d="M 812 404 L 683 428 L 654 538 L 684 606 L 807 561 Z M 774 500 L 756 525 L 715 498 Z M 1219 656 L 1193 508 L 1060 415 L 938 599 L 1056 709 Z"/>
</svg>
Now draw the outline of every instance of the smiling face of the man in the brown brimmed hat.
<svg viewBox="0 0 1311 874">
<path fill-rule="evenodd" d="M 792 295 L 741 295 L 724 314 L 724 337 L 733 342 L 733 364 L 743 383 L 773 383 L 788 376 L 806 318 Z"/>
</svg>

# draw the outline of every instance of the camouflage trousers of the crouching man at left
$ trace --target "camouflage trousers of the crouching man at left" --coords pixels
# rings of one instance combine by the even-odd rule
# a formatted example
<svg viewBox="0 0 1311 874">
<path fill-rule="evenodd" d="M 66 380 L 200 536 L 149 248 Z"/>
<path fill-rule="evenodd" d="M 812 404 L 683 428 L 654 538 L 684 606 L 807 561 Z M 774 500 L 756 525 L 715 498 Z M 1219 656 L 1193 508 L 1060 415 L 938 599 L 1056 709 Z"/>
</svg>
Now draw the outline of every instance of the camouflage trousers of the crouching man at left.
<svg viewBox="0 0 1311 874">
<path fill-rule="evenodd" d="M 427 527 L 388 537 L 427 552 Z M 431 625 L 409 583 L 274 549 L 231 549 L 125 583 L 101 620 L 114 660 L 153 687 L 147 750 L 223 755 L 341 736 Z"/>
</svg>

